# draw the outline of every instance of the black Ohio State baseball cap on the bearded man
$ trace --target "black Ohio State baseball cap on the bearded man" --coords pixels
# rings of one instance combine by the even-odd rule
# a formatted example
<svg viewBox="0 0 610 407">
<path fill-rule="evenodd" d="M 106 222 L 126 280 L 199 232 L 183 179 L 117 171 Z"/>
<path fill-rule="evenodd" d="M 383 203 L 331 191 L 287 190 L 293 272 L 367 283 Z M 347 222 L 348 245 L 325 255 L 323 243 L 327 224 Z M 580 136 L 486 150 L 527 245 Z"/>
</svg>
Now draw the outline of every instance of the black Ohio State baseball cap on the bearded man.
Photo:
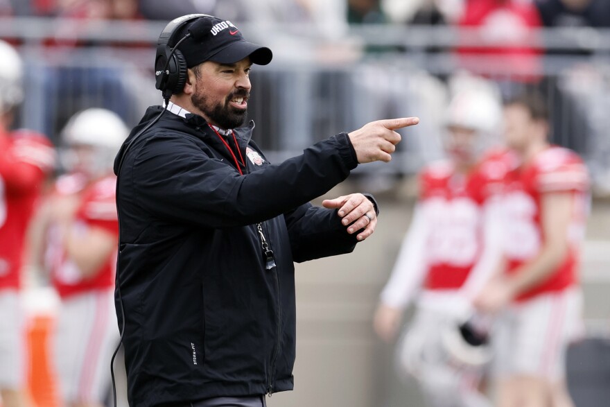
<svg viewBox="0 0 610 407">
<path fill-rule="evenodd" d="M 189 68 L 205 61 L 234 64 L 246 57 L 250 57 L 253 64 L 266 65 L 273 57 L 266 46 L 247 42 L 231 21 L 218 17 L 199 17 L 181 31 L 178 38 L 191 33 L 191 37 L 178 46 Z"/>
</svg>

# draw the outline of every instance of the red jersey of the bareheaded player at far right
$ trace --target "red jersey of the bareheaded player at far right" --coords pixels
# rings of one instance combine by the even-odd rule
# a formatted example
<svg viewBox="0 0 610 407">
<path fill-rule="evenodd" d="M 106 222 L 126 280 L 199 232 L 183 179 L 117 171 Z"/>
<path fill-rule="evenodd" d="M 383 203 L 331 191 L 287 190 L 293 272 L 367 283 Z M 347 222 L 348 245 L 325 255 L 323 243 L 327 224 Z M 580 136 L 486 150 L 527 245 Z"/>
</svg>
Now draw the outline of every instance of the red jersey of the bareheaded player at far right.
<svg viewBox="0 0 610 407">
<path fill-rule="evenodd" d="M 526 300 L 541 293 L 562 291 L 577 284 L 579 245 L 584 239 L 589 211 L 589 173 L 582 159 L 571 150 L 552 146 L 543 150 L 531 163 L 507 175 L 505 214 L 505 256 L 511 274 L 534 259 L 544 243 L 541 223 L 541 198 L 544 193 L 572 193 L 575 201 L 568 232 L 566 259 L 543 282 L 516 300 Z"/>
</svg>

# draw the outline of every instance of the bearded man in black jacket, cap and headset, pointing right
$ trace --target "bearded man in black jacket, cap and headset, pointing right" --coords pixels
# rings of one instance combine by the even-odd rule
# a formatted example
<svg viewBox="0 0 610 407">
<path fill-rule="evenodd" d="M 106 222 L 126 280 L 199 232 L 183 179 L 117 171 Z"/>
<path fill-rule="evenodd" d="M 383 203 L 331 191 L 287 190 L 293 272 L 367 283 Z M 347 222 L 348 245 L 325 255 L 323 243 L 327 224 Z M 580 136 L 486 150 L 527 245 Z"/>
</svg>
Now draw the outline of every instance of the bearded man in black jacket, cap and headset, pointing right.
<svg viewBox="0 0 610 407">
<path fill-rule="evenodd" d="M 368 123 L 270 164 L 254 123 L 240 126 L 250 66 L 271 51 L 206 15 L 172 21 L 159 44 L 166 110 L 148 109 L 115 162 L 130 406 L 264 406 L 293 388 L 293 262 L 351 252 L 377 223 L 361 193 L 308 202 L 358 163 L 389 161 L 394 130 L 418 119 Z M 182 78 L 164 78 L 172 64 Z"/>
</svg>

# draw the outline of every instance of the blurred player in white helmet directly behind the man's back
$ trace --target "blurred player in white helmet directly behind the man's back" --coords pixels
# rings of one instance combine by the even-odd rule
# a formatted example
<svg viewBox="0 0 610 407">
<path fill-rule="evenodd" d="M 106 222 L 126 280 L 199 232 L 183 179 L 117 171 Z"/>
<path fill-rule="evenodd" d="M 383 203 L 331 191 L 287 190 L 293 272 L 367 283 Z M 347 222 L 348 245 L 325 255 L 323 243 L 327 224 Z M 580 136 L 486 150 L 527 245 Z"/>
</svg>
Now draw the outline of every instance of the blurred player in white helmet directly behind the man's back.
<svg viewBox="0 0 610 407">
<path fill-rule="evenodd" d="M 128 135 L 109 110 L 76 113 L 62 130 L 67 173 L 58 178 L 37 215 L 44 236 L 38 261 L 60 296 L 55 368 L 67 406 L 100 407 L 110 385 L 118 341 L 114 272 L 119 224 L 114 155 Z"/>
</svg>

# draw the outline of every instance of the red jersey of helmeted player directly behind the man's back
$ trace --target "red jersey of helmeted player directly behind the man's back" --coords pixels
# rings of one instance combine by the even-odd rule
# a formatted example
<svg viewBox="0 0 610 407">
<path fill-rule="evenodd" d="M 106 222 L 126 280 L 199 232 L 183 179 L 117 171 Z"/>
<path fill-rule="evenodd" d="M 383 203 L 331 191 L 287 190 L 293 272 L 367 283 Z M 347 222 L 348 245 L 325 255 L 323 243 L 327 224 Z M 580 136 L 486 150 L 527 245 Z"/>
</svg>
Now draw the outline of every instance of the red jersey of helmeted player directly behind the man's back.
<svg viewBox="0 0 610 407">
<path fill-rule="evenodd" d="M 73 232 L 77 234 L 85 233 L 91 227 L 101 227 L 116 236 L 118 244 L 119 220 L 116 215 L 115 189 L 116 177 L 114 175 L 92 182 L 84 188 L 82 180 L 78 176 L 67 175 L 58 180 L 55 193 L 78 193 L 80 196 L 80 204 L 73 223 L 75 228 Z M 78 266 L 67 257 L 60 244 L 60 239 L 58 239 L 59 236 L 53 231 L 53 227 L 50 228 L 49 232 L 49 248 L 46 252 L 46 260 L 50 263 L 53 286 L 55 286 L 60 297 L 114 286 L 116 250 L 108 256 L 94 275 L 82 277 Z"/>
</svg>

